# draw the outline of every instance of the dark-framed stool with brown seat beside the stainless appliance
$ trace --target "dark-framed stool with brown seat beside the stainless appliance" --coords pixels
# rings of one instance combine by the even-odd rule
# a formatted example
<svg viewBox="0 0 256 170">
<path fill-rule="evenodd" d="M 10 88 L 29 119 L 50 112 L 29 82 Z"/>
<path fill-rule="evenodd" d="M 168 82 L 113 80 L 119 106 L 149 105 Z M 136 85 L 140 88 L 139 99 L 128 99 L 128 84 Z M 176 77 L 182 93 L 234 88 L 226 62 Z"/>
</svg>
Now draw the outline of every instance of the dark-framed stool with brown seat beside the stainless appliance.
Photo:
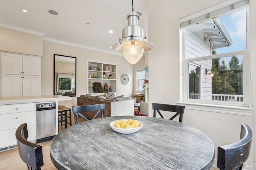
<svg viewBox="0 0 256 170">
<path fill-rule="evenodd" d="M 68 127 L 68 125 L 72 125 L 71 108 L 66 106 L 58 106 L 58 122 L 60 123 L 59 126 L 65 125 L 65 129 Z"/>
</svg>

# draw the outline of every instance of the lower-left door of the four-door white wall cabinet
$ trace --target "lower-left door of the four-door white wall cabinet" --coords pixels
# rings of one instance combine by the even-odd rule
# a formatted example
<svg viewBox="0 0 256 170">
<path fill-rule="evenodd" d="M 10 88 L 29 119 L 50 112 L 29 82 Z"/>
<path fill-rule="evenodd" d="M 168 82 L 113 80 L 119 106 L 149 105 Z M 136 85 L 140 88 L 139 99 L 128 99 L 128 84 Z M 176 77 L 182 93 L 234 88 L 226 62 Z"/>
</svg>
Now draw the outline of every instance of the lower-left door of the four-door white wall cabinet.
<svg viewBox="0 0 256 170">
<path fill-rule="evenodd" d="M 22 75 L 2 74 L 2 97 L 22 96 Z"/>
</svg>

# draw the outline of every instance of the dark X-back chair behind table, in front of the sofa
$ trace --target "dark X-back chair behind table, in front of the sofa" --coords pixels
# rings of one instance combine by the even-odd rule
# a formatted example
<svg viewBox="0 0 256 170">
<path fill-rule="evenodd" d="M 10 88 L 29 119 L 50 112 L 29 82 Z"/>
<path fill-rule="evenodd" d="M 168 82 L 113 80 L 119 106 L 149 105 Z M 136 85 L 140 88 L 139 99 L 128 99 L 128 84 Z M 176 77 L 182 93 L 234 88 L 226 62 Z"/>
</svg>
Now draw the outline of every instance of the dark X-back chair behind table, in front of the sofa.
<svg viewBox="0 0 256 170">
<path fill-rule="evenodd" d="M 78 123 L 78 115 L 82 117 L 84 120 L 88 121 L 91 120 L 84 115 L 82 115 L 83 112 L 88 111 L 97 111 L 97 113 L 94 115 L 92 119 L 95 119 L 97 115 L 101 111 L 101 117 L 104 117 L 104 110 L 105 110 L 105 104 L 93 104 L 93 105 L 86 105 L 86 106 L 73 106 L 72 107 L 74 118 L 75 118 L 75 124 Z"/>
</svg>

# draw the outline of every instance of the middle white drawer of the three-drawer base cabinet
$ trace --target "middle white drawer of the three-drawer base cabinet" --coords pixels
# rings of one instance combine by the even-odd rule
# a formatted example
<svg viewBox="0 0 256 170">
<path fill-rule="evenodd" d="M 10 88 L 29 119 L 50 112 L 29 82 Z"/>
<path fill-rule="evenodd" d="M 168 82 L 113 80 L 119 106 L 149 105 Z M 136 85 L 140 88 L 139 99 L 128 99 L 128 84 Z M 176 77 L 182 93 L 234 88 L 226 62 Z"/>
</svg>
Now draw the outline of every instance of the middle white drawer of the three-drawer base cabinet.
<svg viewBox="0 0 256 170">
<path fill-rule="evenodd" d="M 0 131 L 18 128 L 22 123 L 35 125 L 35 112 L 10 113 L 0 115 Z"/>
</svg>

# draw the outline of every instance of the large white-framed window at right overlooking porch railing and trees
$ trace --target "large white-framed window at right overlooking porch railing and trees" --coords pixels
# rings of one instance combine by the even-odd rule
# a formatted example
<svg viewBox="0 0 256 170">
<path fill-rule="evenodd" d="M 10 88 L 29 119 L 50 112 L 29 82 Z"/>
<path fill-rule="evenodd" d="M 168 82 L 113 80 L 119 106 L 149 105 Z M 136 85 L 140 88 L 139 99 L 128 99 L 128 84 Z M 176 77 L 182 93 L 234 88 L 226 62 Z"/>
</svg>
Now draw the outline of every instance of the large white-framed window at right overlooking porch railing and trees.
<svg viewBox="0 0 256 170">
<path fill-rule="evenodd" d="M 184 102 L 248 106 L 248 1 L 232 2 L 180 19 Z"/>
</svg>

